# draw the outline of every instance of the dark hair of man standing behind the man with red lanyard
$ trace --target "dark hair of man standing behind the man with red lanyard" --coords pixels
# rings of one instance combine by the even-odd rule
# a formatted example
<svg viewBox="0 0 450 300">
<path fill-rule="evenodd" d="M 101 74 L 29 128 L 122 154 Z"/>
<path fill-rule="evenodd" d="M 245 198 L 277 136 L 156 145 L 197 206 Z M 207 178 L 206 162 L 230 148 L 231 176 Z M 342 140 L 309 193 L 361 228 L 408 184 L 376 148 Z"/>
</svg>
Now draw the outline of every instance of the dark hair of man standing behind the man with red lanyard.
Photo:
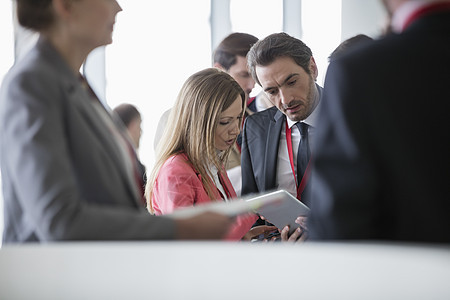
<svg viewBox="0 0 450 300">
<path fill-rule="evenodd" d="M 228 35 L 217 46 L 213 55 L 213 63 L 219 63 L 229 70 L 236 63 L 236 56 L 246 57 L 248 51 L 258 39 L 247 33 L 235 32 Z"/>
</svg>

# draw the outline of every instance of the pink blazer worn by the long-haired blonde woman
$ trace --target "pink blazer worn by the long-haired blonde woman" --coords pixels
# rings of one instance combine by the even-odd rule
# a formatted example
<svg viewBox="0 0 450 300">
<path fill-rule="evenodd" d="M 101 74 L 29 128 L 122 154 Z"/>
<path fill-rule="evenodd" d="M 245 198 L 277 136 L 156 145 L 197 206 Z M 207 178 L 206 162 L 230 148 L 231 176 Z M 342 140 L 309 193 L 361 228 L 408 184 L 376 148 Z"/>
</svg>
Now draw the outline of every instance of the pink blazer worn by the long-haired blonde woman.
<svg viewBox="0 0 450 300">
<path fill-rule="evenodd" d="M 223 174 L 224 185 L 231 196 L 236 198 L 236 192 L 226 172 Z M 222 198 L 218 189 L 215 190 L 214 198 L 214 200 Z M 153 187 L 152 203 L 156 215 L 168 214 L 181 207 L 191 207 L 211 201 L 203 188 L 200 174 L 194 170 L 186 154 L 177 154 L 167 159 L 159 170 Z M 250 230 L 256 219 L 254 214 L 237 217 L 225 239 L 240 240 Z"/>
</svg>

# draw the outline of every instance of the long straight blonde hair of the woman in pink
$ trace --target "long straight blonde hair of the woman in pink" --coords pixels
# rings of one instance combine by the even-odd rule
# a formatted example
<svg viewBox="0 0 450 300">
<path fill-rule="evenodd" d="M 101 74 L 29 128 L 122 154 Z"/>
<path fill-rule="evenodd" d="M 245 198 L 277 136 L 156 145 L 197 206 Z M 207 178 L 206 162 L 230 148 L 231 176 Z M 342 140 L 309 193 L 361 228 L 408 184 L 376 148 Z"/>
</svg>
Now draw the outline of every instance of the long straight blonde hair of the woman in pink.
<svg viewBox="0 0 450 300">
<path fill-rule="evenodd" d="M 152 194 L 159 170 L 168 158 L 185 153 L 192 167 L 200 174 L 206 193 L 214 199 L 214 183 L 209 166 L 223 168 L 231 151 L 220 156 L 214 145 L 220 114 L 230 107 L 237 97 L 245 108 L 245 93 L 239 84 L 224 71 L 208 68 L 190 76 L 181 88 L 172 108 L 167 126 L 156 149 L 155 166 L 145 187 L 147 208 L 153 213 Z"/>
</svg>

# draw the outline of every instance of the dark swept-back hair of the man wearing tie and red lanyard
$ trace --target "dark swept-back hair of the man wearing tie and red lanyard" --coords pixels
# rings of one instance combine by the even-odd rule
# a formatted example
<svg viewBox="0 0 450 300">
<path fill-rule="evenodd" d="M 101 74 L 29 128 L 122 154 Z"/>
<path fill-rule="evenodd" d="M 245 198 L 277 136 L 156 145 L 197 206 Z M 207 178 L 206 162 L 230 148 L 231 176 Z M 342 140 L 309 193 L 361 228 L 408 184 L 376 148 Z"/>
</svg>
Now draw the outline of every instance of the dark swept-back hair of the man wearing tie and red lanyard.
<svg viewBox="0 0 450 300">
<path fill-rule="evenodd" d="M 256 76 L 256 66 L 267 66 L 279 57 L 290 57 L 310 74 L 311 49 L 301 40 L 284 32 L 271 34 L 258 41 L 247 54 L 248 68 L 253 79 L 261 85 Z"/>
</svg>

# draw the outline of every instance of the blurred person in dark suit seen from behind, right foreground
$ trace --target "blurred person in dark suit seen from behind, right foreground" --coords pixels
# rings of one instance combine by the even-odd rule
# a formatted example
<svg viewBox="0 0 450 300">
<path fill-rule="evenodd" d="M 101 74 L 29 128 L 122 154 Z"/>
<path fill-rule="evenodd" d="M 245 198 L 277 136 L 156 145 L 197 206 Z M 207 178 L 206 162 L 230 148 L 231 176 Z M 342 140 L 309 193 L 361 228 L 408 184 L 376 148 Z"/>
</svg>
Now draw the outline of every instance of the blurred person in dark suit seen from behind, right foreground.
<svg viewBox="0 0 450 300">
<path fill-rule="evenodd" d="M 332 62 L 310 237 L 450 242 L 450 1 L 384 1 L 390 34 Z"/>
</svg>

